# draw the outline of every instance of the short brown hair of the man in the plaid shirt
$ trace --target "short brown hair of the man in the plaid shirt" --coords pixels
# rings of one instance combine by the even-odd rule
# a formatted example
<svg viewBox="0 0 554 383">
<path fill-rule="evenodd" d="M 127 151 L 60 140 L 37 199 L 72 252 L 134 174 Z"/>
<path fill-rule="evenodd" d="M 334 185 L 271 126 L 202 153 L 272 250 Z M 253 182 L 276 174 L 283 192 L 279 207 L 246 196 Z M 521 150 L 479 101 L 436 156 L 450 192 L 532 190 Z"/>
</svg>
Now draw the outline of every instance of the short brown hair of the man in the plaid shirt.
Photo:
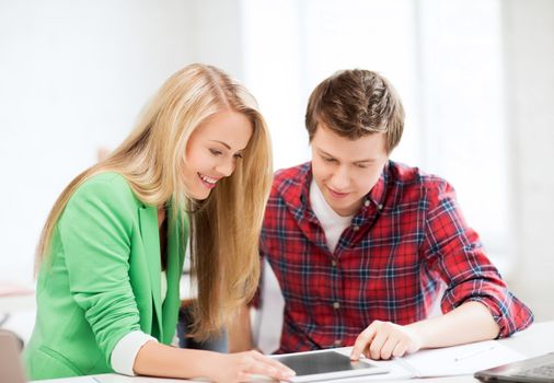
<svg viewBox="0 0 554 383">
<path fill-rule="evenodd" d="M 404 107 L 396 90 L 379 73 L 342 70 L 323 80 L 310 95 L 305 112 L 310 141 L 319 124 L 350 140 L 384 132 L 391 153 L 402 137 Z"/>
</svg>

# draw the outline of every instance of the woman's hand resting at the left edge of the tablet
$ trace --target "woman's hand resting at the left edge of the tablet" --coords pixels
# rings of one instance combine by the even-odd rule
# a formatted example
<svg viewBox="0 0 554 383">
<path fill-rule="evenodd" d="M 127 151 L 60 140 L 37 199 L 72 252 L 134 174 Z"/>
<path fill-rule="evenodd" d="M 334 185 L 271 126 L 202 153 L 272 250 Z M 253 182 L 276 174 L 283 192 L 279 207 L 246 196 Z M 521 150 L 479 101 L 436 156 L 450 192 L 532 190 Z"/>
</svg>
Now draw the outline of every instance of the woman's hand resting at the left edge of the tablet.
<svg viewBox="0 0 554 383">
<path fill-rule="evenodd" d="M 249 382 L 251 375 L 264 375 L 288 381 L 296 373 L 278 361 L 258 351 L 218 353 L 220 360 L 212 364 L 208 376 L 215 382 Z"/>
</svg>

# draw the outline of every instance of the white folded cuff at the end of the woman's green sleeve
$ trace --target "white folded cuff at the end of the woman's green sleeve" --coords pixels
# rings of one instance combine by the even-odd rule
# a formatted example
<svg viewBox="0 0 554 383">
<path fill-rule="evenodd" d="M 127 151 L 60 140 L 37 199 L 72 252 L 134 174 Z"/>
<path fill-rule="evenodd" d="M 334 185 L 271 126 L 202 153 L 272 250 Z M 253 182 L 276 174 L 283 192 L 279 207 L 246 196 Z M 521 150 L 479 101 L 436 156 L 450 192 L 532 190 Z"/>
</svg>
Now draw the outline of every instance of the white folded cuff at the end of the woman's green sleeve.
<svg viewBox="0 0 554 383">
<path fill-rule="evenodd" d="M 112 351 L 112 369 L 120 374 L 135 376 L 136 373 L 132 369 L 135 359 L 142 346 L 150 340 L 158 343 L 154 337 L 138 330 L 125 335 Z"/>
</svg>

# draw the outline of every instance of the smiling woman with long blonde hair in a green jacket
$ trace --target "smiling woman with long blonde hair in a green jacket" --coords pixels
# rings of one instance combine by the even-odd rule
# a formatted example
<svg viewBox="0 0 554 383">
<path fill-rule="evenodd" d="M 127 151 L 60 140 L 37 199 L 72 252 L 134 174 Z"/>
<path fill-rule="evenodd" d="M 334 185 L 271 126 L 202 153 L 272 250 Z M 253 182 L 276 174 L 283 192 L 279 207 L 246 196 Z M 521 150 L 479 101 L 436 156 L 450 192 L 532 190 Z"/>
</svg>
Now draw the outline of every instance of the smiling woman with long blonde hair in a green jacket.
<svg viewBox="0 0 554 383">
<path fill-rule="evenodd" d="M 171 77 L 129 137 L 74 178 L 48 216 L 30 378 L 289 378 L 255 351 L 166 346 L 188 233 L 198 282 L 192 336 L 217 336 L 254 294 L 270 179 L 268 132 L 252 95 L 209 66 Z"/>
</svg>

